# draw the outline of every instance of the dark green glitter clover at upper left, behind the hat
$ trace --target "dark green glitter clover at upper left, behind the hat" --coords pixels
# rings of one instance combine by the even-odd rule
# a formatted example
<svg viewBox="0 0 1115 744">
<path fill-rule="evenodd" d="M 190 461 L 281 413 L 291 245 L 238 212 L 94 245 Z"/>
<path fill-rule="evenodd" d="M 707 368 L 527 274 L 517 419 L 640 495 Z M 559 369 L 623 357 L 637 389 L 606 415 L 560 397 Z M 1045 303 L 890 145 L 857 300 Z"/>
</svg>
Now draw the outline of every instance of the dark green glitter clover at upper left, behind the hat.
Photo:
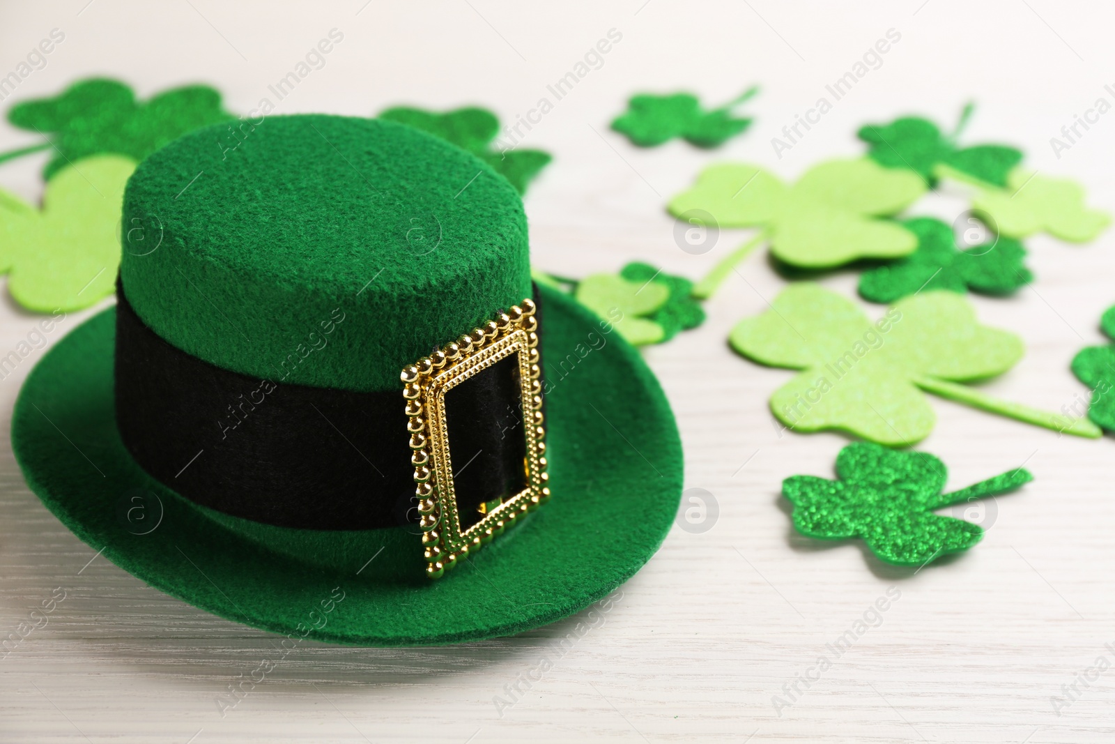
<svg viewBox="0 0 1115 744">
<path fill-rule="evenodd" d="M 107 78 L 79 80 L 57 96 L 26 100 L 8 112 L 14 126 L 49 136 L 56 154 L 43 172 L 47 178 L 90 155 L 115 153 L 139 162 L 187 132 L 233 118 L 209 86 L 172 88 L 138 102 L 132 88 Z"/>
</svg>

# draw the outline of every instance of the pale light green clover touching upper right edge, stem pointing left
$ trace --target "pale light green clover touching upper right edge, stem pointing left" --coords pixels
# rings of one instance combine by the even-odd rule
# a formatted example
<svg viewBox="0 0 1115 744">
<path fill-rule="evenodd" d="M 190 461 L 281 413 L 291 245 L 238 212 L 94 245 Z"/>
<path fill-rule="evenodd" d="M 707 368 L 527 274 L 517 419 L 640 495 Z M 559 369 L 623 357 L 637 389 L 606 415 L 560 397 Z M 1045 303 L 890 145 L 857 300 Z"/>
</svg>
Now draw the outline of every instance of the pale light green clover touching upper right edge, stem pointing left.
<svg viewBox="0 0 1115 744">
<path fill-rule="evenodd" d="M 1007 176 L 1006 189 L 972 182 L 963 173 L 938 166 L 938 175 L 966 181 L 978 190 L 972 212 L 1000 235 L 1026 238 L 1047 232 L 1073 243 L 1098 235 L 1111 215 L 1084 205 L 1084 189 L 1075 181 L 1046 178 L 1021 168 Z"/>
</svg>

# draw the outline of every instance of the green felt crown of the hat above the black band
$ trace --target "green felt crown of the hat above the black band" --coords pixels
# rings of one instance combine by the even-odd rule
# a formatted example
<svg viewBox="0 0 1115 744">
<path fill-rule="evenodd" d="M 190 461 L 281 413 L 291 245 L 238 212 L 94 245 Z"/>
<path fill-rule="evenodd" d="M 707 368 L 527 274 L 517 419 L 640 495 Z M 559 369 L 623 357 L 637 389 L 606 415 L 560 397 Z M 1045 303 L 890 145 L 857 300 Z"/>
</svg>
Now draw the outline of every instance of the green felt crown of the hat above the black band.
<svg viewBox="0 0 1115 744">
<path fill-rule="evenodd" d="M 531 293 L 522 201 L 468 153 L 324 115 L 268 117 L 224 154 L 221 135 L 158 151 L 124 199 L 128 300 L 180 349 L 274 381 L 397 389 L 404 366 Z M 336 311 L 341 332 L 313 350 Z"/>
</svg>

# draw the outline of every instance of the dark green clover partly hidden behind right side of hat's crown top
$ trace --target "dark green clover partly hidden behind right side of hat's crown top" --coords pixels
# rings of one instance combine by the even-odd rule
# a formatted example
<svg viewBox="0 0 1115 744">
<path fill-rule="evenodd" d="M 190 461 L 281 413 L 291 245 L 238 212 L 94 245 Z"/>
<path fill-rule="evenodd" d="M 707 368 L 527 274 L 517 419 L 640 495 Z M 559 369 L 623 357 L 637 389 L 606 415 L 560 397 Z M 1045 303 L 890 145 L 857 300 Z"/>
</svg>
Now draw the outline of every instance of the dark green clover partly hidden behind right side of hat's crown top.
<svg viewBox="0 0 1115 744">
<path fill-rule="evenodd" d="M 492 152 L 488 146 L 500 134 L 500 119 L 484 108 L 469 106 L 438 114 L 421 108 L 396 106 L 380 112 L 379 118 L 428 132 L 476 155 L 510 181 L 520 194 L 526 192 L 526 185 L 553 160 L 550 153 L 541 149 Z"/>
</svg>

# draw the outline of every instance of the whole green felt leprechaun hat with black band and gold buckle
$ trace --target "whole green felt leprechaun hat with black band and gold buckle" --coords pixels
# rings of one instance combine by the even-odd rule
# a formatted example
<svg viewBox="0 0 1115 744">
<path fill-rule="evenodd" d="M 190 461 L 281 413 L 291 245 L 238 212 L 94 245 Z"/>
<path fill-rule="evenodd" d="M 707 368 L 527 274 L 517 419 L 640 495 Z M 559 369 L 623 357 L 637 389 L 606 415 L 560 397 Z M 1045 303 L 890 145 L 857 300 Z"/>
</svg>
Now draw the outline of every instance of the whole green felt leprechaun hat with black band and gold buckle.
<svg viewBox="0 0 1115 744">
<path fill-rule="evenodd" d="M 28 377 L 12 446 L 47 508 L 169 595 L 324 641 L 513 634 L 631 577 L 677 427 L 611 325 L 532 287 L 511 184 L 388 122 L 233 136 L 139 165 L 117 306 Z"/>
</svg>

